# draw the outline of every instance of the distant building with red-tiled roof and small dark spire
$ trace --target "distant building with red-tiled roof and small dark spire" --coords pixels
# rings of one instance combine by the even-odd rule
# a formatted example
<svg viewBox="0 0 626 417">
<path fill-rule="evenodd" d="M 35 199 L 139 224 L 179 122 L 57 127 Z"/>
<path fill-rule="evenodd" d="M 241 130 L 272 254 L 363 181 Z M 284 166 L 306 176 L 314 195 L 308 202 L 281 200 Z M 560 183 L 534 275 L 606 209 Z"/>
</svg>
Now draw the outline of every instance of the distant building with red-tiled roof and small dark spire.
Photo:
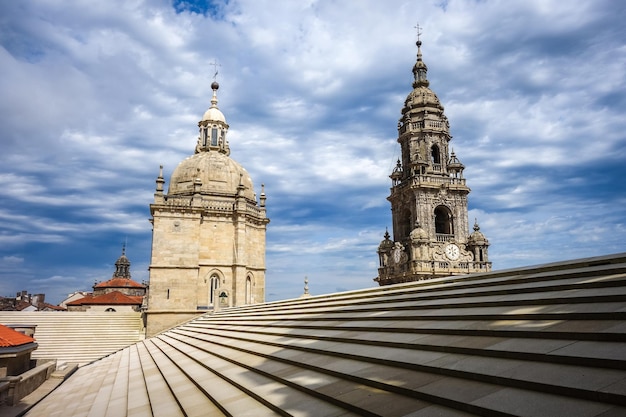
<svg viewBox="0 0 626 417">
<path fill-rule="evenodd" d="M 140 311 L 145 295 L 146 286 L 130 277 L 130 261 L 123 248 L 110 280 L 94 284 L 93 293 L 65 301 L 65 305 L 68 311 Z"/>
</svg>

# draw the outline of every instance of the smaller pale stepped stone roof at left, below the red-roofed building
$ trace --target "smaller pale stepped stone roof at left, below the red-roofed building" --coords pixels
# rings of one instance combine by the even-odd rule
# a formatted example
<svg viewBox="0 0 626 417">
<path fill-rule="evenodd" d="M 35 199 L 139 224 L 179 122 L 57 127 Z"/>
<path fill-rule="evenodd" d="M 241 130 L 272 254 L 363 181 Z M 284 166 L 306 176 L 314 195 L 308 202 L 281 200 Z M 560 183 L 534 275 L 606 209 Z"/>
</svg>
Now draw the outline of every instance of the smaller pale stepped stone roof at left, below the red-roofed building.
<svg viewBox="0 0 626 417">
<path fill-rule="evenodd" d="M 85 365 L 144 338 L 141 313 L 0 311 L 0 324 L 36 325 L 32 359 Z"/>
</svg>

